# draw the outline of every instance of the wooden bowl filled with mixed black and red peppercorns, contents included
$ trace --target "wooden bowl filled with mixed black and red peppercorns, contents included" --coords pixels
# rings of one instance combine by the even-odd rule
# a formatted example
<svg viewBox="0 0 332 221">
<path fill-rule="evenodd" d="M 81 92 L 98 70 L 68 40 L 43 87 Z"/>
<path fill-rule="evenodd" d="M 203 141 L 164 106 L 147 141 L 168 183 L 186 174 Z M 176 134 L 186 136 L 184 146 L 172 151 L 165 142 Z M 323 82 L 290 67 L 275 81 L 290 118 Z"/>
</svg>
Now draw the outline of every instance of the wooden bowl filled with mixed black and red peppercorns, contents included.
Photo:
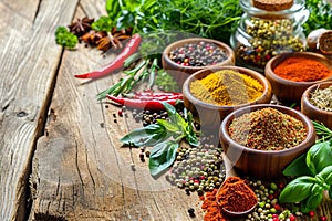
<svg viewBox="0 0 332 221">
<path fill-rule="evenodd" d="M 176 41 L 163 52 L 163 69 L 183 86 L 197 71 L 215 66 L 235 65 L 235 52 L 220 41 L 189 38 Z"/>
</svg>

